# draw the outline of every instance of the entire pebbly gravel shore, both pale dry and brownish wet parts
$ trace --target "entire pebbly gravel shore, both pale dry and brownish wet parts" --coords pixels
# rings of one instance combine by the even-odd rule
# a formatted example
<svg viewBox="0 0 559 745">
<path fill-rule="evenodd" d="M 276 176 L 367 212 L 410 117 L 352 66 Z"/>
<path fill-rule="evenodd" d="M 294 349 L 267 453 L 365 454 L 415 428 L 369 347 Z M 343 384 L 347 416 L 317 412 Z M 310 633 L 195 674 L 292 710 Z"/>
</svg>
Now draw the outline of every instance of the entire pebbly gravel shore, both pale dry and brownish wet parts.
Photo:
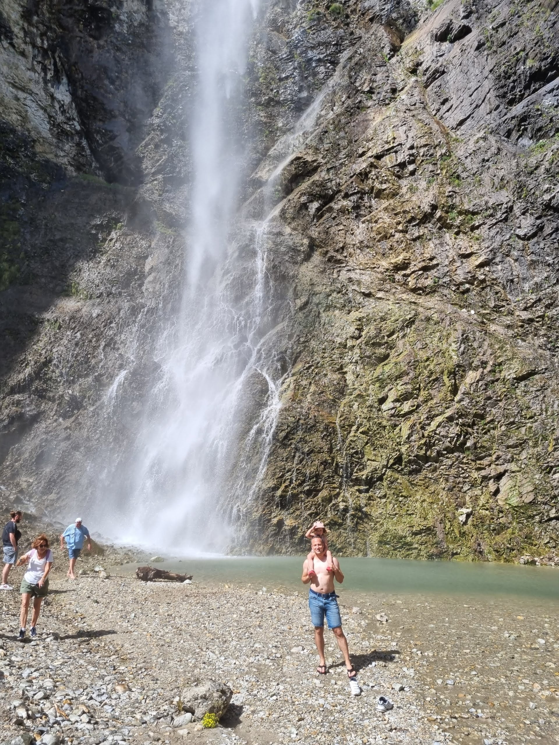
<svg viewBox="0 0 559 745">
<path fill-rule="evenodd" d="M 344 594 L 362 691 L 352 697 L 332 635 L 329 674 L 315 673 L 303 586 L 142 583 L 112 571 L 71 582 L 61 559 L 57 550 L 37 641 L 16 641 L 19 593 L 0 594 L 3 740 L 48 730 L 84 745 L 559 742 L 557 607 Z M 180 691 L 207 679 L 233 689 L 227 717 L 179 732 Z M 394 700 L 388 714 L 376 712 L 380 694 Z"/>
</svg>

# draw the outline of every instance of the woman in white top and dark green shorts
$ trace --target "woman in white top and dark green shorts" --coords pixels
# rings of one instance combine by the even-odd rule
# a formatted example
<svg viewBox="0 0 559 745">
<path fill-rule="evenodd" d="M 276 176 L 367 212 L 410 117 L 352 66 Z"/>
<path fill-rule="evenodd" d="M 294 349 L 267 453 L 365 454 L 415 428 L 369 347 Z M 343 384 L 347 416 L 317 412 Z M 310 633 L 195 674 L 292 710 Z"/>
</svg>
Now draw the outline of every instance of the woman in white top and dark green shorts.
<svg viewBox="0 0 559 745">
<path fill-rule="evenodd" d="M 48 592 L 48 572 L 51 571 L 54 557 L 48 548 L 48 538 L 42 533 L 31 544 L 31 551 L 19 557 L 16 566 L 28 562 L 28 568 L 22 579 L 19 592 L 22 595 L 22 612 L 19 618 L 19 641 L 25 639 L 25 626 L 29 612 L 31 597 L 33 600 L 33 612 L 31 613 L 31 638 L 37 636 L 37 621 L 41 612 L 42 598 Z"/>
</svg>

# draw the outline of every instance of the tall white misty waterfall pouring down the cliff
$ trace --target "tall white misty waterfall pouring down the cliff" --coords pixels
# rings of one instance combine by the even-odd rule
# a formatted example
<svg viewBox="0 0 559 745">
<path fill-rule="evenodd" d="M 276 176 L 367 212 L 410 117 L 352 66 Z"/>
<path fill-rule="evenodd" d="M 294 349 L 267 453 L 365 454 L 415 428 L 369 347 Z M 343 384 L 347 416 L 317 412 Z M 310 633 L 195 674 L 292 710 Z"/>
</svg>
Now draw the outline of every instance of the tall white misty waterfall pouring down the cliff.
<svg viewBox="0 0 559 745">
<path fill-rule="evenodd" d="M 265 247 L 253 233 L 253 245 L 242 251 L 233 235 L 244 154 L 235 113 L 257 5 L 204 0 L 195 10 L 198 82 L 189 130 L 193 178 L 183 298 L 157 344 L 160 375 L 145 405 L 125 498 L 121 539 L 154 547 L 164 542 L 179 553 L 227 548 L 230 527 L 218 507 L 229 489 L 251 375 L 262 375 L 270 405 L 277 406 L 274 376 L 262 365 Z"/>
</svg>

